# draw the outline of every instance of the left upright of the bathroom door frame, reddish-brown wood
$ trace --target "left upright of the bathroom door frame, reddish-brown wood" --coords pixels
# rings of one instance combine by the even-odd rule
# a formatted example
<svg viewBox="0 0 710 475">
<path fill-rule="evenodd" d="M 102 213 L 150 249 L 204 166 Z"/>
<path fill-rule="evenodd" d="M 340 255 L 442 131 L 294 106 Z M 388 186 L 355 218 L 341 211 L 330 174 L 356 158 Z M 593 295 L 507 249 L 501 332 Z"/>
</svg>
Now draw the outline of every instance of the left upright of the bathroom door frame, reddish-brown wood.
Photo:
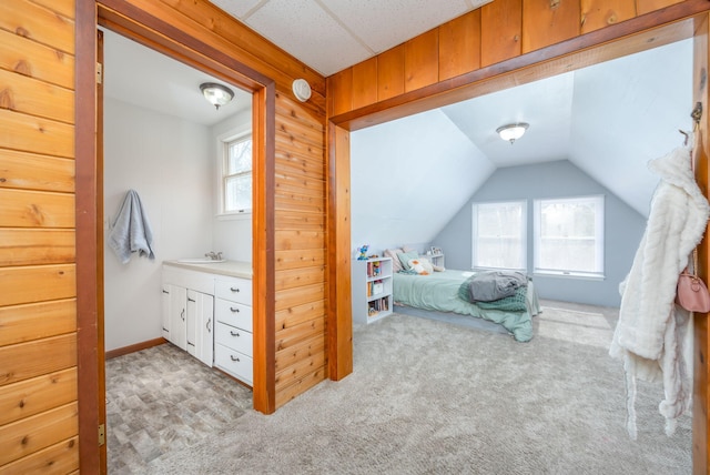
<svg viewBox="0 0 710 475">
<path fill-rule="evenodd" d="M 97 282 L 97 4 L 77 0 L 75 162 L 77 162 L 77 338 L 79 370 L 79 465 L 87 471 L 101 465 L 99 448 L 99 295 Z M 103 338 L 103 335 L 101 335 Z M 92 468 L 91 468 L 92 467 Z"/>
</svg>

